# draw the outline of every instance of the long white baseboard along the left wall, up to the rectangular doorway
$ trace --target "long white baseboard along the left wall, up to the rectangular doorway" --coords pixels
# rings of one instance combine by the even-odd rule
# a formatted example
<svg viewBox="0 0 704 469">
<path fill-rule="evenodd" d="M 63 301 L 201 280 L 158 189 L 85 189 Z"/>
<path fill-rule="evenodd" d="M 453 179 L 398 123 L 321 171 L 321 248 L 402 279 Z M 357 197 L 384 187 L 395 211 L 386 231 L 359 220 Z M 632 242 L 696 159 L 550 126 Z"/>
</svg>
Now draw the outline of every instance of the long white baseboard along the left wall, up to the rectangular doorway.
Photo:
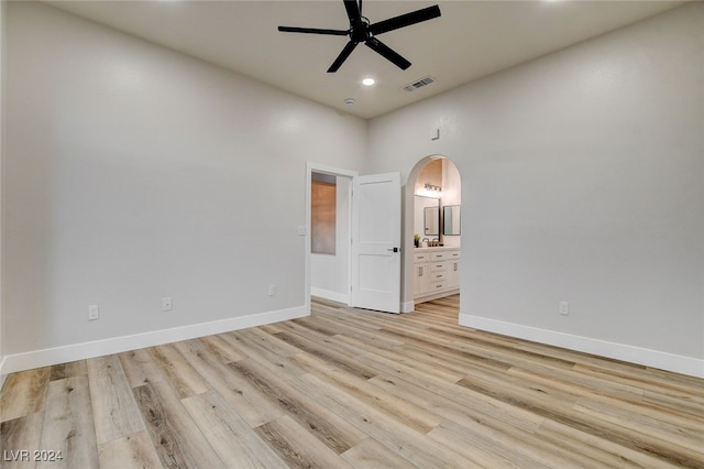
<svg viewBox="0 0 704 469">
<path fill-rule="evenodd" d="M 154 347 L 162 343 L 176 342 L 179 340 L 211 336 L 213 334 L 221 334 L 230 330 L 239 330 L 248 327 L 278 323 L 282 320 L 296 319 L 309 315 L 310 312 L 305 306 L 299 306 L 295 308 L 213 320 L 210 323 L 175 327 L 172 329 L 155 330 L 153 332 L 113 337 L 105 340 L 9 355 L 4 357 L 4 360 L 0 363 L 0 377 L 4 377 L 16 371 L 31 370 L 33 368 L 67 363 L 70 361 L 85 360 L 111 353 L 120 353 L 145 347 Z"/>
</svg>

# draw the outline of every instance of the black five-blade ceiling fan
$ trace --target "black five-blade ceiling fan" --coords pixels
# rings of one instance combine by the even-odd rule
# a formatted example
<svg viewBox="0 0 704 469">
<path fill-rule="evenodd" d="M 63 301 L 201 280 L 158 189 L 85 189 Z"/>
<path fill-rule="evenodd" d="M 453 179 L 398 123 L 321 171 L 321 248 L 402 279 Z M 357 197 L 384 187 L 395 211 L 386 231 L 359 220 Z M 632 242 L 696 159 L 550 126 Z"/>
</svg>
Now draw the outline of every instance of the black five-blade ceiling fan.
<svg viewBox="0 0 704 469">
<path fill-rule="evenodd" d="M 376 39 L 377 35 L 397 30 L 399 28 L 409 26 L 411 24 L 420 23 L 424 21 L 432 20 L 440 17 L 440 7 L 437 4 L 433 7 L 424 8 L 413 11 L 410 13 L 402 14 L 398 17 L 389 18 L 388 20 L 380 21 L 377 23 L 370 23 L 370 20 L 362 17 L 362 0 L 343 0 L 344 9 L 348 12 L 350 19 L 349 30 L 326 30 L 318 28 L 296 28 L 296 26 L 278 26 L 278 31 L 286 33 L 307 33 L 307 34 L 326 34 L 333 36 L 350 36 L 350 42 L 344 46 L 338 58 L 334 59 L 328 73 L 334 73 L 340 68 L 342 63 L 352 54 L 354 47 L 361 42 L 374 52 L 381 54 L 386 59 L 391 61 L 400 69 L 410 67 L 410 62 L 402 57 L 386 44 Z"/>
</svg>

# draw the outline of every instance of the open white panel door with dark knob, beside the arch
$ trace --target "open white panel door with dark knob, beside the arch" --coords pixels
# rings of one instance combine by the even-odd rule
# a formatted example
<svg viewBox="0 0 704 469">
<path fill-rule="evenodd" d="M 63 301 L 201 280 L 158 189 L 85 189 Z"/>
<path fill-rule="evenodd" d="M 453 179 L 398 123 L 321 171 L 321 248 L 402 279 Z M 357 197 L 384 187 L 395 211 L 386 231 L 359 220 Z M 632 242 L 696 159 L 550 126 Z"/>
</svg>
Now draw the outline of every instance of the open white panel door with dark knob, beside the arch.
<svg viewBox="0 0 704 469">
<path fill-rule="evenodd" d="M 400 313 L 400 174 L 356 176 L 352 188 L 352 306 Z"/>
</svg>

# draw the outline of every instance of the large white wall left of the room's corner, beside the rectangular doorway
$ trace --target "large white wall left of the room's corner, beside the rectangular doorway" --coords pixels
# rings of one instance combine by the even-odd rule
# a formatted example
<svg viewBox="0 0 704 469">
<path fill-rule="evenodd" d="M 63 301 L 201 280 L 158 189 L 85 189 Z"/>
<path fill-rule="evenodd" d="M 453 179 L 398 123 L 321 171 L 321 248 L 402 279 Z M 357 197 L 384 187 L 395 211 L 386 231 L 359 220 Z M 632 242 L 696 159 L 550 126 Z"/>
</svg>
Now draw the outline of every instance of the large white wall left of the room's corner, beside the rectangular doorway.
<svg viewBox="0 0 704 469">
<path fill-rule="evenodd" d="M 8 26 L 7 371 L 305 314 L 306 161 L 355 170 L 363 120 L 42 3 Z"/>
</svg>

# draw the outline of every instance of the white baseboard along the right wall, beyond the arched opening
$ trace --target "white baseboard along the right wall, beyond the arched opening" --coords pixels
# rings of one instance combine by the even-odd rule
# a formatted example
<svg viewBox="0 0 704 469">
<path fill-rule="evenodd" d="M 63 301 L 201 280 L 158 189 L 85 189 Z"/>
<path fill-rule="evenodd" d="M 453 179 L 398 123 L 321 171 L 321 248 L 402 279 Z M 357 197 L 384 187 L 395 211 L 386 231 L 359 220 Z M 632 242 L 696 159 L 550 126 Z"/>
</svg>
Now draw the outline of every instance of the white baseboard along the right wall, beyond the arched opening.
<svg viewBox="0 0 704 469">
<path fill-rule="evenodd" d="M 704 360 L 460 313 L 460 326 L 704 378 Z"/>
</svg>

